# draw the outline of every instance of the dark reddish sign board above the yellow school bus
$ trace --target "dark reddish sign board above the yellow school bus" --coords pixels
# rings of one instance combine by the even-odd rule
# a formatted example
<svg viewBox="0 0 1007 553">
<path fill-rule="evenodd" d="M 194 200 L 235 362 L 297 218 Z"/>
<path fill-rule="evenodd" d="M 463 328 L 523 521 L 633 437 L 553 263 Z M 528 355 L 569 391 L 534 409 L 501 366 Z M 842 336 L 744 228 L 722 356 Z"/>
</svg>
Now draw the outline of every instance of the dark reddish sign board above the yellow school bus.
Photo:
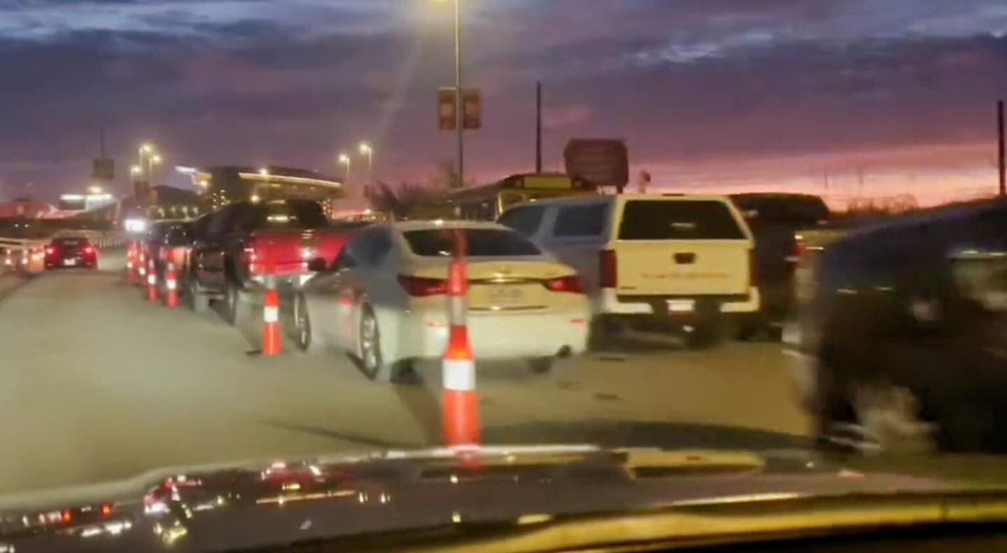
<svg viewBox="0 0 1007 553">
<path fill-rule="evenodd" d="M 563 149 L 566 172 L 595 186 L 622 193 L 629 182 L 629 154 L 618 139 L 572 139 Z"/>
</svg>

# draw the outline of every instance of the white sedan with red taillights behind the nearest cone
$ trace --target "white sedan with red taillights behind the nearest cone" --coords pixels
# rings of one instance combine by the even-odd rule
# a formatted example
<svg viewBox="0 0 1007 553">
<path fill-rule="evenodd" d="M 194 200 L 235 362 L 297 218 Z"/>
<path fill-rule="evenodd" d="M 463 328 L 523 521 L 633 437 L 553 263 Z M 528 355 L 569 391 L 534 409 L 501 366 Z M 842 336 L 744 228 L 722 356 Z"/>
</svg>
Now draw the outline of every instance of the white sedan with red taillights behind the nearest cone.
<svg viewBox="0 0 1007 553">
<path fill-rule="evenodd" d="M 586 348 L 589 308 L 576 271 L 514 230 L 480 222 L 369 226 L 291 310 L 302 349 L 345 351 L 372 379 L 397 380 L 439 358 L 448 335 L 447 270 L 455 230 L 467 242 L 468 331 L 476 362 L 525 359 L 545 372 Z"/>
</svg>

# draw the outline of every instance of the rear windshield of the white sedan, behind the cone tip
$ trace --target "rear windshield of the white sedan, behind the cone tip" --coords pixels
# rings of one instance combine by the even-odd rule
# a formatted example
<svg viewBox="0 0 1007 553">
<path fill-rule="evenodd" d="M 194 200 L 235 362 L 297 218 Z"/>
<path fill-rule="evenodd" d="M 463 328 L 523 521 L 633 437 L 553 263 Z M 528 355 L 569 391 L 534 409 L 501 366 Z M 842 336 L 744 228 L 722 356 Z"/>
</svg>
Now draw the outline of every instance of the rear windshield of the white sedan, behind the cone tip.
<svg viewBox="0 0 1007 553">
<path fill-rule="evenodd" d="M 408 230 L 403 234 L 410 249 L 424 257 L 449 256 L 454 252 L 453 228 Z M 466 254 L 472 256 L 538 255 L 535 244 L 513 230 L 497 228 L 463 228 Z"/>
</svg>

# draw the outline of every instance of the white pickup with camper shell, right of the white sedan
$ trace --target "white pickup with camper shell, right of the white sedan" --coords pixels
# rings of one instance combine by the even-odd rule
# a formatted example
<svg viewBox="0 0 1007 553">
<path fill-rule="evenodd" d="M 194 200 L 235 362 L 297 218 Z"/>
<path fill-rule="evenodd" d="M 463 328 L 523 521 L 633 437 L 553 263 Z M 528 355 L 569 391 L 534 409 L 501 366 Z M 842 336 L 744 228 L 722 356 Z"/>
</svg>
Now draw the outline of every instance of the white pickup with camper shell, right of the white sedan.
<svg viewBox="0 0 1007 553">
<path fill-rule="evenodd" d="M 703 347 L 758 312 L 752 236 L 726 197 L 556 198 L 498 222 L 577 269 L 599 337 L 681 329 Z"/>
</svg>

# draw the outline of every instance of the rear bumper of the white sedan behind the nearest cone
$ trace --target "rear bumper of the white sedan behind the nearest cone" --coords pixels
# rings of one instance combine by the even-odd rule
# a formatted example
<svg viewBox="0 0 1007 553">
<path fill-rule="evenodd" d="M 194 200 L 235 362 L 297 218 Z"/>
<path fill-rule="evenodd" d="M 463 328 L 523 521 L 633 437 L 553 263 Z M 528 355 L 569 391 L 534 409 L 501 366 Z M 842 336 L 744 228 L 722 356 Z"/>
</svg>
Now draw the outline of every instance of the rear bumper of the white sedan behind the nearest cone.
<svg viewBox="0 0 1007 553">
<path fill-rule="evenodd" d="M 567 350 L 587 349 L 587 310 L 529 314 L 468 315 L 468 336 L 476 359 L 549 357 Z M 447 345 L 448 325 L 443 310 L 412 312 L 399 327 L 399 359 L 439 358 Z"/>
</svg>

